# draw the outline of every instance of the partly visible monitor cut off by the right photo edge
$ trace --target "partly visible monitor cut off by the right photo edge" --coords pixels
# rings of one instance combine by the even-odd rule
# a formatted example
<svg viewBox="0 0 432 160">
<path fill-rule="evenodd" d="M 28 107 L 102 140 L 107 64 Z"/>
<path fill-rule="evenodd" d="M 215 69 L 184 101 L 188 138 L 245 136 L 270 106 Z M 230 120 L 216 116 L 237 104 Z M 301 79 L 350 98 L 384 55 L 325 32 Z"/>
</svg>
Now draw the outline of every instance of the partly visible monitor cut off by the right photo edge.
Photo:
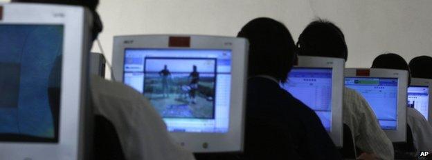
<svg viewBox="0 0 432 160">
<path fill-rule="evenodd" d="M 432 79 L 412 78 L 408 87 L 408 107 L 418 110 L 432 125 Z"/>
</svg>

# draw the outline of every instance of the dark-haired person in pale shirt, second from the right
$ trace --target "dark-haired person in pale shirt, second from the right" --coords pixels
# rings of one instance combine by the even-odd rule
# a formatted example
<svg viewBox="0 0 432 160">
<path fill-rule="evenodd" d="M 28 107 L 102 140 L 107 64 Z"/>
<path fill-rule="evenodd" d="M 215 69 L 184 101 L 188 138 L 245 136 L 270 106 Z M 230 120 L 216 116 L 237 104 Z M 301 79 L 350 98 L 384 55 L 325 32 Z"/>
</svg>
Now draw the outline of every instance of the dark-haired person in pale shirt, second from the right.
<svg viewBox="0 0 432 160">
<path fill-rule="evenodd" d="M 376 57 L 371 68 L 386 68 L 395 70 L 407 70 L 410 72 L 408 63 L 405 59 L 394 53 L 381 54 Z M 409 76 L 409 74 L 408 74 Z M 410 81 L 408 77 L 408 81 Z M 408 82 L 409 83 L 409 82 Z M 432 151 L 432 127 L 423 115 L 414 108 L 406 109 L 406 123 L 411 128 L 413 135 L 413 145 L 416 152 L 416 157 L 421 151 Z"/>
</svg>

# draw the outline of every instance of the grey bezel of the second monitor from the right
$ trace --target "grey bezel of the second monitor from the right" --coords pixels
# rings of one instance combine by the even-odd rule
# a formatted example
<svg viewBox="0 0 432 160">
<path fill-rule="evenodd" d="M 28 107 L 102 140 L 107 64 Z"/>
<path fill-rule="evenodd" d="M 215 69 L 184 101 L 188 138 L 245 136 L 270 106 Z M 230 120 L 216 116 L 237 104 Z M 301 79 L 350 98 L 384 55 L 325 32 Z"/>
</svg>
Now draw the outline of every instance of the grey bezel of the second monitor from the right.
<svg viewBox="0 0 432 160">
<path fill-rule="evenodd" d="M 368 70 L 369 74 L 357 75 L 357 70 Z M 390 141 L 405 142 L 408 71 L 382 68 L 345 68 L 345 77 L 397 78 L 397 130 L 384 130 L 384 132 Z"/>
</svg>

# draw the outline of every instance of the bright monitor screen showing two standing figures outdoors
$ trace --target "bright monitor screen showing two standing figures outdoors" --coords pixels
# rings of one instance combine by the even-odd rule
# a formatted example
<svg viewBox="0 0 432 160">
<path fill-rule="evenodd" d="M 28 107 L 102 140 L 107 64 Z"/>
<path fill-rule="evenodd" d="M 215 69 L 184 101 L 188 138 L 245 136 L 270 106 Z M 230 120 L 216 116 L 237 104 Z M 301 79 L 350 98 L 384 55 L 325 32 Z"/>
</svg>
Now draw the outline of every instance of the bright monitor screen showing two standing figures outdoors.
<svg viewBox="0 0 432 160">
<path fill-rule="evenodd" d="M 125 49 L 123 82 L 170 132 L 228 132 L 231 50 Z"/>
</svg>

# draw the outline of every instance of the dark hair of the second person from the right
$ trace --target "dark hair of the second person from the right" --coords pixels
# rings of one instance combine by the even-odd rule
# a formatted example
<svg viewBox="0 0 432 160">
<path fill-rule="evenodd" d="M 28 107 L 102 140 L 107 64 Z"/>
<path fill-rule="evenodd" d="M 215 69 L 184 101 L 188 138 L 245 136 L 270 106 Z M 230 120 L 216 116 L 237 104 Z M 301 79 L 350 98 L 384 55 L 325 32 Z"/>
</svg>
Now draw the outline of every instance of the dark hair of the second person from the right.
<svg viewBox="0 0 432 160">
<path fill-rule="evenodd" d="M 372 67 L 370 68 L 385 68 L 394 70 L 406 70 L 408 71 L 408 84 L 411 83 L 411 77 L 409 75 L 408 63 L 405 59 L 395 53 L 381 54 L 374 59 Z"/>
</svg>

